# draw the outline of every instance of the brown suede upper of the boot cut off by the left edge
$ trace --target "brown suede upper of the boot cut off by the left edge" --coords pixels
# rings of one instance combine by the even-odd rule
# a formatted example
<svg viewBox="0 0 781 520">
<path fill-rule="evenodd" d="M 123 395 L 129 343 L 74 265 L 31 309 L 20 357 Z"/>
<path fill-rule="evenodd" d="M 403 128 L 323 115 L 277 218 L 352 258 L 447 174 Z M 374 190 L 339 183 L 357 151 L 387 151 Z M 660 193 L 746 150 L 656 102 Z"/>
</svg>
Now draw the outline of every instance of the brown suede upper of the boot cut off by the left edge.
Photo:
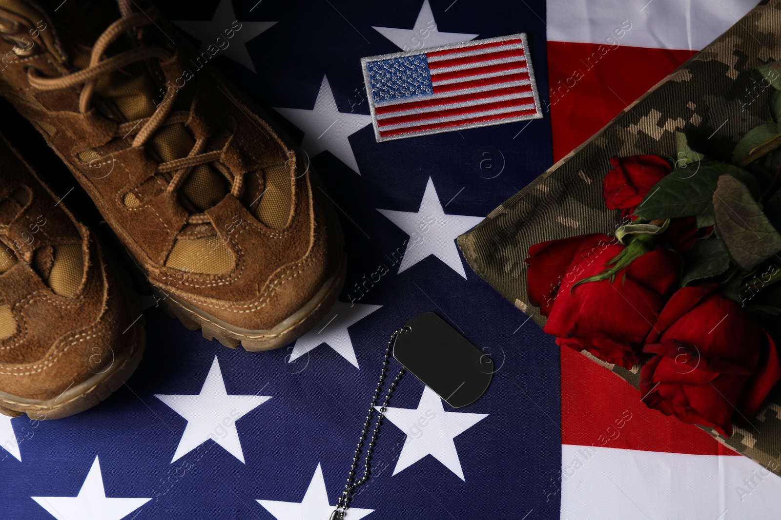
<svg viewBox="0 0 781 520">
<path fill-rule="evenodd" d="M 11 194 L 23 190 L 27 202 Z M 0 274 L 0 305 L 8 305 L 16 332 L 0 341 L 0 391 L 48 400 L 108 370 L 134 351 L 123 334 L 139 311 L 105 266 L 95 238 L 41 183 L 0 136 L 0 246 L 19 260 Z M 73 297 L 57 295 L 30 264 L 34 251 L 80 244 L 84 274 Z M 4 399 L 0 397 L 0 406 Z"/>
</svg>

